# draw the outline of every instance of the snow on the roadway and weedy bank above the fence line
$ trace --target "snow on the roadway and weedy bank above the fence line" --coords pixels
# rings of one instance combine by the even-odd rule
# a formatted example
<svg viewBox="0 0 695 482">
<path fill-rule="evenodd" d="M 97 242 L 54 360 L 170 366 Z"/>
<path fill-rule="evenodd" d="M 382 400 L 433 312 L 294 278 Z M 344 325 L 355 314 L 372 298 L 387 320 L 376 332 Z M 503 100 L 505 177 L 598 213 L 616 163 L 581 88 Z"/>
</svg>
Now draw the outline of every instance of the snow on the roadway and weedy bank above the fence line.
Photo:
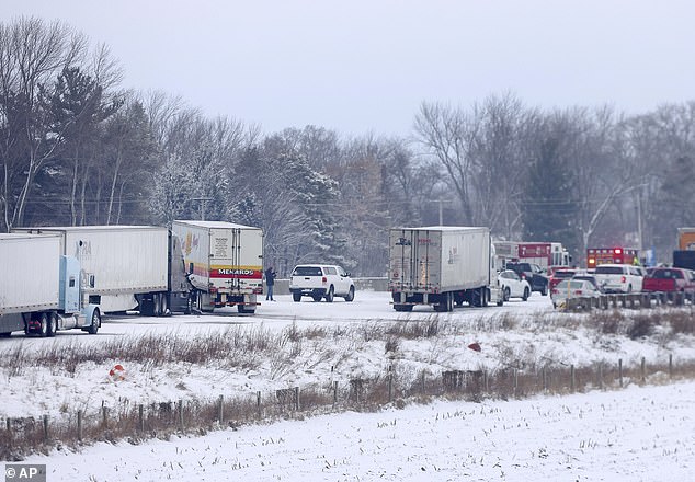
<svg viewBox="0 0 695 482">
<path fill-rule="evenodd" d="M 504 307 L 485 309 L 458 308 L 454 313 L 434 313 L 432 309 L 417 309 L 413 313 L 397 313 L 389 306 L 388 294 L 363 291 L 354 302 L 338 299 L 333 303 L 308 299 L 295 303 L 289 296 L 278 296 L 276 302 L 263 302 L 255 315 L 240 315 L 221 310 L 215 314 L 141 318 L 137 315 L 104 319 L 96 335 L 79 330 L 59 332 L 53 340 L 13 335 L 0 340 L 0 418 L 20 416 L 64 416 L 65 413 L 96 411 L 111 408 L 149 404 L 176 400 L 215 400 L 218 395 L 239 397 L 278 388 L 306 387 L 315 383 L 330 386 L 335 380 L 348 386 L 352 378 L 383 375 L 392 367 L 403 387 L 422 370 L 438 376 L 444 370 L 495 369 L 508 365 L 524 366 L 570 365 L 586 366 L 596 362 L 637 366 L 645 357 L 648 364 L 665 363 L 669 355 L 677 364 L 695 360 L 693 336 L 652 336 L 631 341 L 625 336 L 601 335 L 581 322 L 567 328 L 550 326 L 547 317 L 556 314 L 548 297 L 534 294 L 527 302 L 512 300 Z M 523 320 L 513 329 L 497 329 L 505 315 Z M 384 340 L 367 341 L 371 328 L 406 323 L 407 320 L 440 320 L 454 334 L 432 338 L 400 340 L 395 353 L 386 353 Z M 498 320 L 495 322 L 495 320 Z M 497 324 L 495 324 L 497 323 Z M 75 374 L 41 364 L 24 363 L 20 375 L 12 374 L 9 357 L 16 351 L 31 354 L 42 348 L 58 352 L 79 349 L 100 343 L 133 340 L 156 335 L 166 340 L 190 340 L 223 333 L 231 336 L 243 333 L 281 333 L 296 325 L 335 329 L 345 334 L 337 337 L 303 340 L 300 345 L 284 352 L 259 353 L 244 367 L 230 366 L 225 360 L 204 365 L 172 363 L 132 363 L 110 359 L 103 364 L 83 363 Z M 352 331 L 351 331 L 352 330 Z M 362 333 L 362 332 L 367 332 Z M 468 348 L 471 343 L 480 352 Z M 125 368 L 125 380 L 114 381 L 109 371 L 116 364 Z"/>
</svg>

